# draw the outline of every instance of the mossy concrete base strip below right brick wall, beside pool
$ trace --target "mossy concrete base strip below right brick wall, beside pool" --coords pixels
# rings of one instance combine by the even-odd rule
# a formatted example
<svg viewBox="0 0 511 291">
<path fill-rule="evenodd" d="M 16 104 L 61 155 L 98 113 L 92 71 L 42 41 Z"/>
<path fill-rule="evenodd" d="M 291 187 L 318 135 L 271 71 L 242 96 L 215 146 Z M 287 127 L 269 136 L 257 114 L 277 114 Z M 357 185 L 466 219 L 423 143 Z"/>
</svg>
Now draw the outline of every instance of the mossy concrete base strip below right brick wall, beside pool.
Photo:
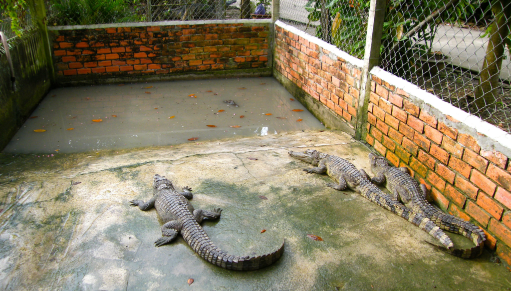
<svg viewBox="0 0 511 291">
<path fill-rule="evenodd" d="M 273 70 L 273 77 L 278 80 L 286 89 L 293 95 L 296 100 L 303 104 L 319 121 L 326 127 L 332 129 L 339 129 L 351 136 L 355 135 L 355 129 L 348 123 L 342 120 L 334 111 L 324 106 L 319 101 L 314 99 L 311 95 L 307 94 L 296 84 L 291 82 L 288 78 L 284 77 L 277 70 Z"/>
</svg>

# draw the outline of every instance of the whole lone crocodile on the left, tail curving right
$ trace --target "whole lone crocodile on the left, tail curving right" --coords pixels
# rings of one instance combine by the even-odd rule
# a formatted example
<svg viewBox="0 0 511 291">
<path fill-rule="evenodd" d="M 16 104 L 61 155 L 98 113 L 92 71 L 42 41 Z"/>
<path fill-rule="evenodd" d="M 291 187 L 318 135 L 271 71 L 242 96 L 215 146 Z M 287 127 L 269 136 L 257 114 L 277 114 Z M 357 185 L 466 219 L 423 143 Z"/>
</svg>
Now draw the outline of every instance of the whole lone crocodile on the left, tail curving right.
<svg viewBox="0 0 511 291">
<path fill-rule="evenodd" d="M 229 255 L 220 250 L 199 225 L 202 219 L 217 219 L 222 210 L 214 211 L 194 209 L 188 199 L 192 198 L 191 189 L 183 188 L 183 192 L 176 192 L 172 182 L 165 176 L 154 175 L 153 197 L 146 203 L 142 200 L 130 201 L 131 206 L 138 206 L 141 210 L 156 208 L 156 212 L 164 221 L 161 227 L 163 234 L 156 243 L 156 247 L 171 242 L 180 233 L 190 247 L 206 261 L 228 270 L 251 271 L 268 266 L 281 257 L 284 252 L 284 242 L 273 253 L 257 257 L 239 257 Z"/>
</svg>

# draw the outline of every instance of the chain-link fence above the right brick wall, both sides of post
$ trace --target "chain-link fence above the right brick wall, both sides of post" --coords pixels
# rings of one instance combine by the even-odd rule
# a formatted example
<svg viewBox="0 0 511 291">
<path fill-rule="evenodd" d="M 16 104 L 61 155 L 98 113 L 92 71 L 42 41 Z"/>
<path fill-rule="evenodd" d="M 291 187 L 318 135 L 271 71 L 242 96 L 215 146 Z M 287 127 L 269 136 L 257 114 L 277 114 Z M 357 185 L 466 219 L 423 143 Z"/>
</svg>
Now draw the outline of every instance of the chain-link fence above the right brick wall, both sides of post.
<svg viewBox="0 0 511 291">
<path fill-rule="evenodd" d="M 281 20 L 362 58 L 369 0 L 281 0 Z M 511 132 L 511 1 L 388 0 L 380 66 Z"/>
</svg>

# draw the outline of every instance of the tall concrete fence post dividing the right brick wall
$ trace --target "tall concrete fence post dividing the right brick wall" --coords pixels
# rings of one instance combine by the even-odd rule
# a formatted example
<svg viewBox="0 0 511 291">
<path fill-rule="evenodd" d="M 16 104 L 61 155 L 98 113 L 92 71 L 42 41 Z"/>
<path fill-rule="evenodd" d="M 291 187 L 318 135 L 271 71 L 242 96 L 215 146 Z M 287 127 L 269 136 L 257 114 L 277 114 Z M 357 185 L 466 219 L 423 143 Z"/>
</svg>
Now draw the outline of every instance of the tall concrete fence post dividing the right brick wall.
<svg viewBox="0 0 511 291">
<path fill-rule="evenodd" d="M 371 92 L 371 79 L 369 71 L 380 63 L 380 45 L 383 33 L 383 20 L 385 18 L 386 0 L 371 0 L 369 7 L 369 20 L 367 21 L 367 37 L 365 41 L 364 64 L 360 78 L 360 97 L 357 110 L 357 127 L 355 139 L 365 140 L 367 131 L 367 106 Z"/>
</svg>

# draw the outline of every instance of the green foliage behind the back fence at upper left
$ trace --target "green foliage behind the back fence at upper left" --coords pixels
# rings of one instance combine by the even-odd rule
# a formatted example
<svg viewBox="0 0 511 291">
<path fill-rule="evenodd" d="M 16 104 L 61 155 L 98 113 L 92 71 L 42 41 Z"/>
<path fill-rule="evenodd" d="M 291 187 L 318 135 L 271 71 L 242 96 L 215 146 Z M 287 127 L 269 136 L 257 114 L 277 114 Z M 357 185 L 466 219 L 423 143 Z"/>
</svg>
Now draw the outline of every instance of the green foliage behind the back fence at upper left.
<svg viewBox="0 0 511 291">
<path fill-rule="evenodd" d="M 90 25 L 144 20 L 133 13 L 133 0 L 50 0 L 53 25 Z"/>
</svg>

